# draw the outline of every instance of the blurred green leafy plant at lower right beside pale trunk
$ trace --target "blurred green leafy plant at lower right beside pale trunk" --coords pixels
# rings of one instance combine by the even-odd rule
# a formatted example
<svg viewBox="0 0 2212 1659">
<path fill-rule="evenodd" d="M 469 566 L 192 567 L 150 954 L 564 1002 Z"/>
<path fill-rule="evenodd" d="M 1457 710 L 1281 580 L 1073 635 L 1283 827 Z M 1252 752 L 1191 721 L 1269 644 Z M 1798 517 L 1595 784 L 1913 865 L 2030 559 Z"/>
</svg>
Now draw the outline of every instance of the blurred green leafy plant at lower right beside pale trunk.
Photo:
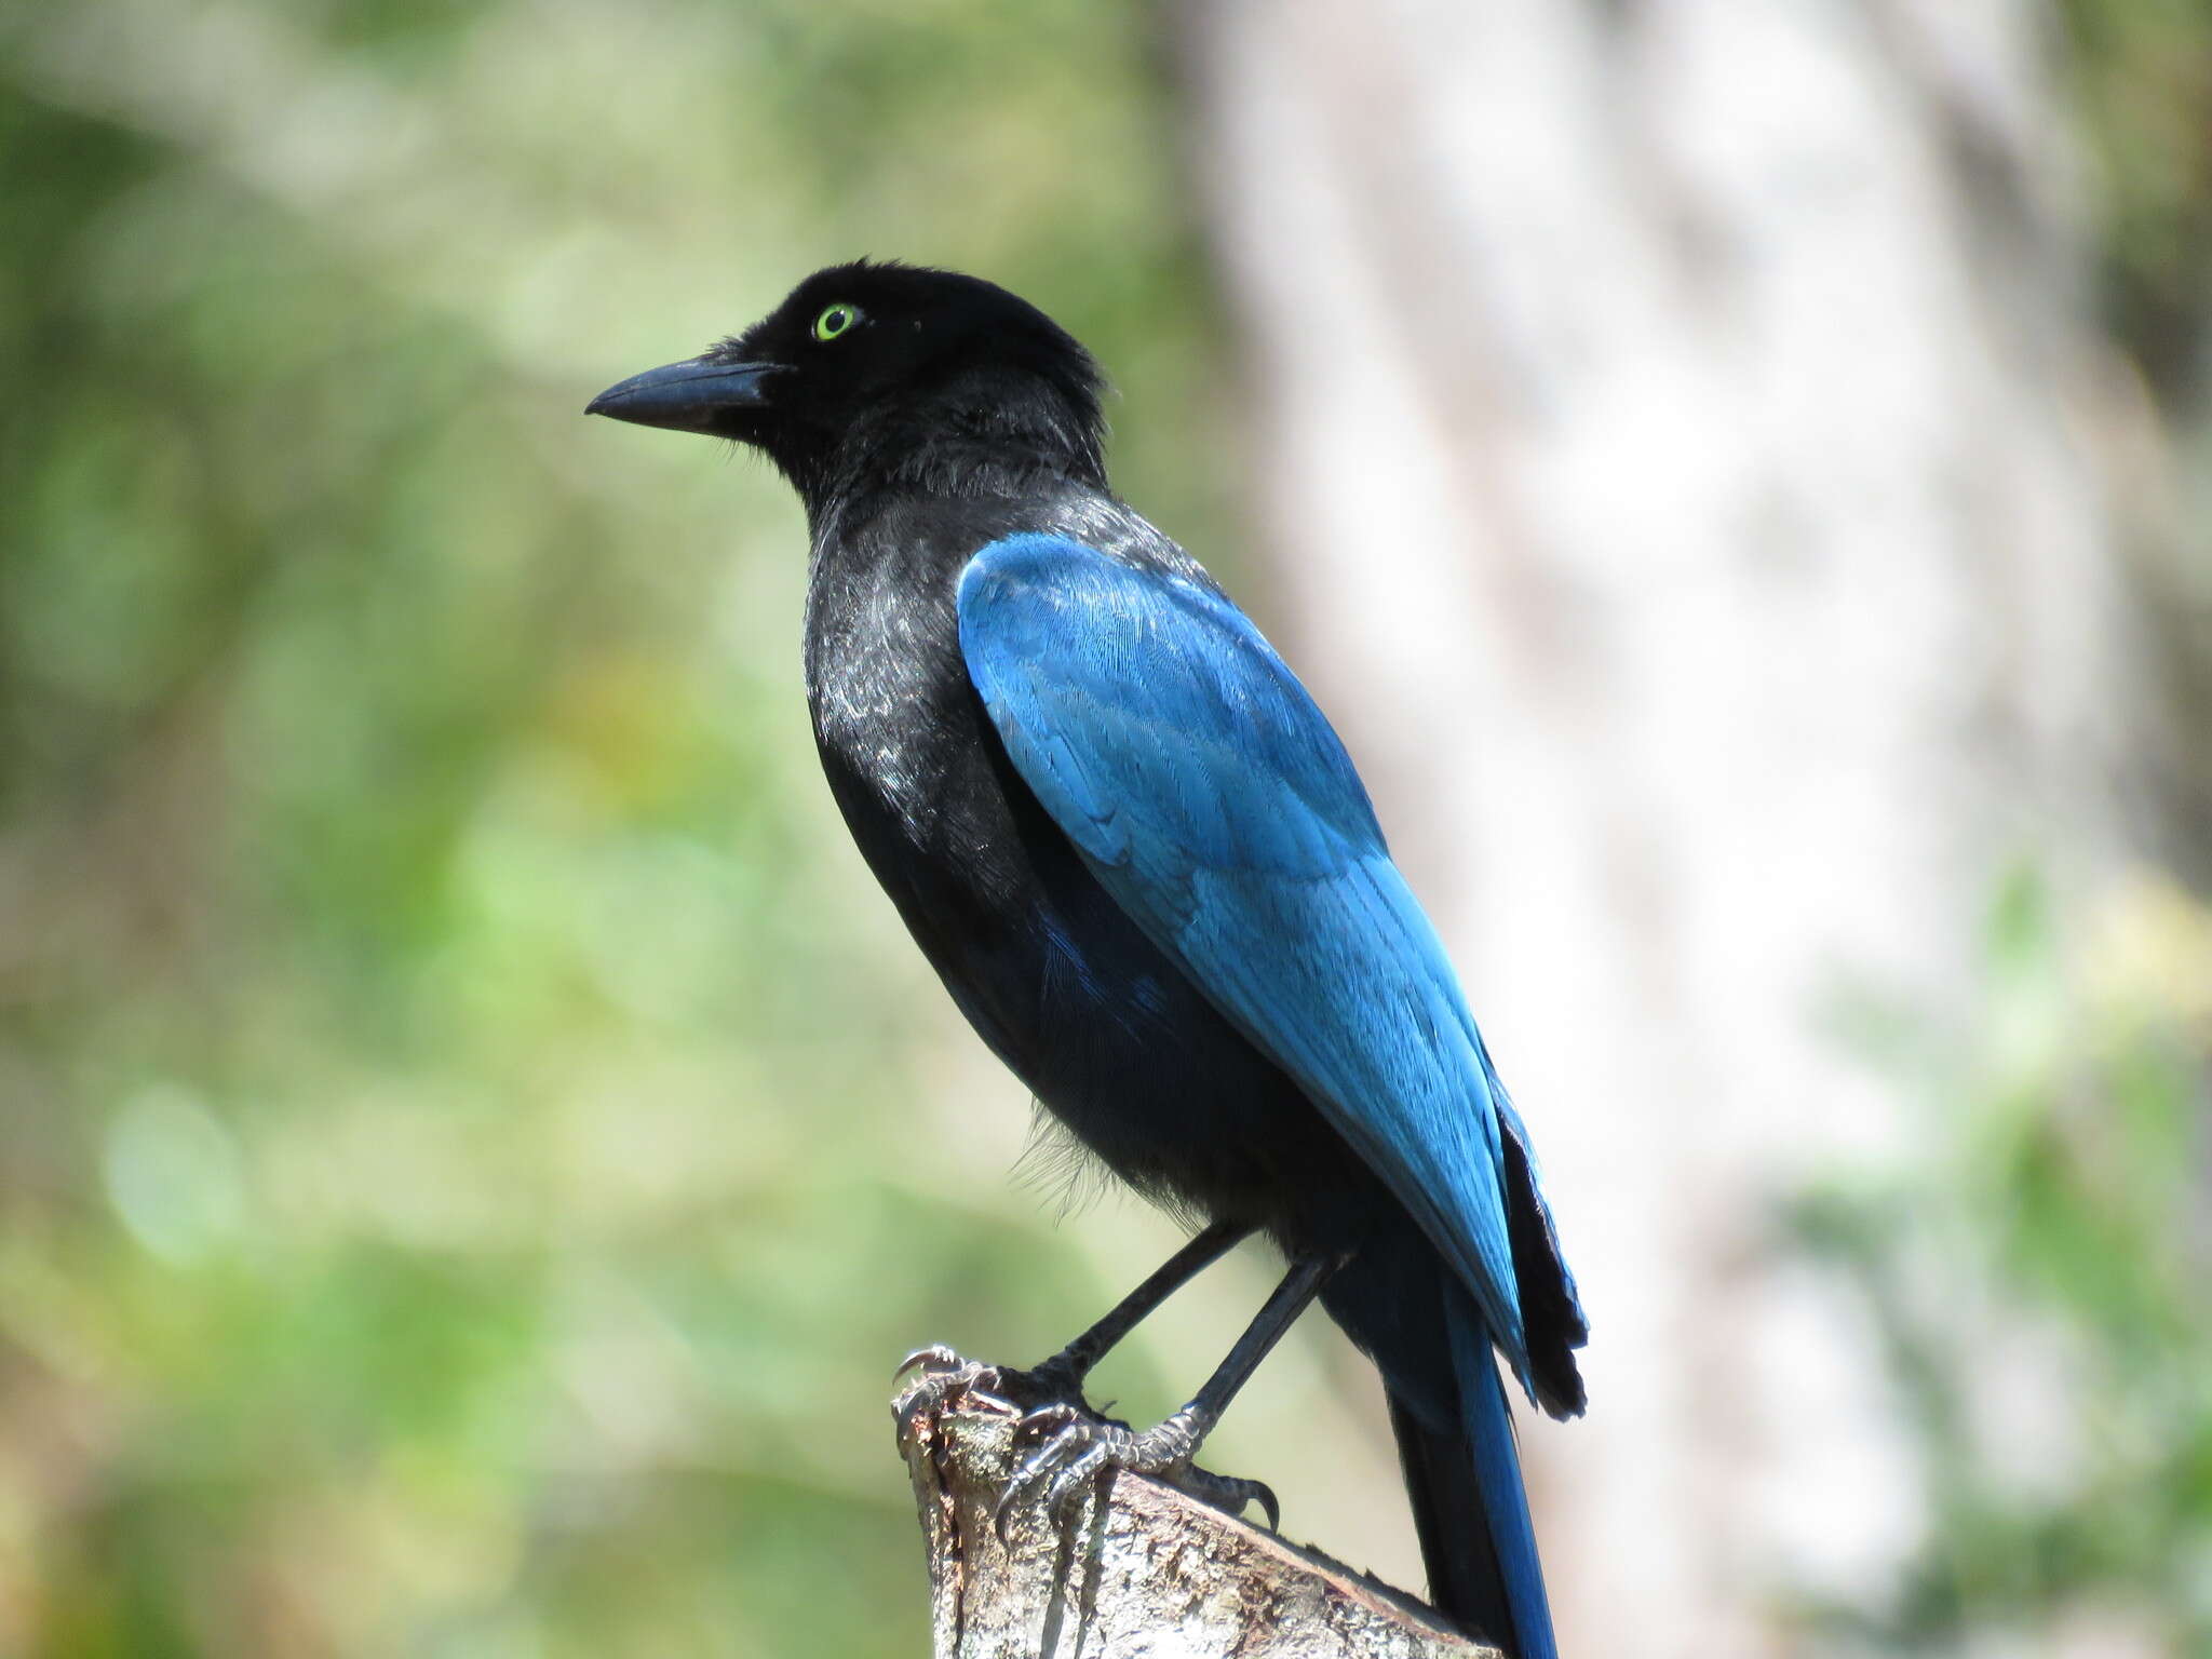
<svg viewBox="0 0 2212 1659">
<path fill-rule="evenodd" d="M 1796 1208 L 1874 1316 L 1927 1528 L 1889 1606 L 1807 1613 L 1885 1652 L 2212 1652 L 2212 909 L 2022 867 L 1984 962 L 1971 1031 L 1863 1011 L 1913 1148 Z"/>
</svg>

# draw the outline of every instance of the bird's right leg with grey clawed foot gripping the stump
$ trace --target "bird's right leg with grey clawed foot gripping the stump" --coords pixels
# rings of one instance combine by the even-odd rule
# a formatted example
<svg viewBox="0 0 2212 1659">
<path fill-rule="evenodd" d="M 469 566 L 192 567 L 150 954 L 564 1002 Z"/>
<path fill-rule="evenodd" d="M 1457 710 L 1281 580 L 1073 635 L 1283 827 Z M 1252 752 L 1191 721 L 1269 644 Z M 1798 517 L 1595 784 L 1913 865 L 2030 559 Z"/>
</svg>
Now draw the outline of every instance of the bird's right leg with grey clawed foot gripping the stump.
<svg viewBox="0 0 2212 1659">
<path fill-rule="evenodd" d="M 1004 1537 L 1006 1522 L 1022 1504 L 1042 1500 L 1044 1511 L 1057 1515 L 1082 1491 L 1084 1482 L 1108 1469 L 1166 1475 L 1194 1498 L 1221 1504 L 1230 1513 L 1243 1509 L 1248 1502 L 1259 1502 L 1267 1511 L 1267 1524 L 1274 1526 L 1281 1520 L 1281 1506 L 1267 1486 L 1256 1480 L 1232 1480 L 1208 1473 L 1190 1460 L 1221 1420 L 1228 1402 L 1237 1398 L 1237 1391 L 1259 1369 L 1267 1349 L 1283 1338 L 1283 1332 L 1292 1327 L 1340 1265 L 1340 1256 L 1303 1256 L 1294 1261 L 1290 1272 L 1283 1274 L 1283 1283 L 1267 1298 L 1267 1305 L 1259 1310 L 1259 1316 L 1237 1338 L 1228 1358 L 1206 1378 L 1197 1396 L 1152 1429 L 1137 1433 L 1126 1425 L 1086 1416 L 1066 1402 L 1044 1405 L 1022 1418 L 1020 1431 L 1048 1433 L 1048 1438 L 1006 1480 L 1006 1491 L 998 1500 L 995 1515 L 1000 1537 Z"/>
</svg>

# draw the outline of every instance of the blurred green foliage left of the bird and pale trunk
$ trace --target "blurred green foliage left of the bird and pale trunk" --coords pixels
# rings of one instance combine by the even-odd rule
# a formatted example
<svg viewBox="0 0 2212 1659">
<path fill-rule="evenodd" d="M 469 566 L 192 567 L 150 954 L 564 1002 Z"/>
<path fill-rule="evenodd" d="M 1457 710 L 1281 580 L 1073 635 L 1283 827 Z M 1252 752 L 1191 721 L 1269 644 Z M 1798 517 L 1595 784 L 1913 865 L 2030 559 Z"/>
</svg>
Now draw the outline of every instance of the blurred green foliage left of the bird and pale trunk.
<svg viewBox="0 0 2212 1659">
<path fill-rule="evenodd" d="M 1219 546 L 1146 53 L 1006 0 L 0 22 L 0 1652 L 925 1644 L 889 1358 L 1106 1287 L 993 1208 L 1011 1084 L 980 1152 L 918 1117 L 787 491 L 580 411 L 830 259 L 980 268 Z"/>
</svg>

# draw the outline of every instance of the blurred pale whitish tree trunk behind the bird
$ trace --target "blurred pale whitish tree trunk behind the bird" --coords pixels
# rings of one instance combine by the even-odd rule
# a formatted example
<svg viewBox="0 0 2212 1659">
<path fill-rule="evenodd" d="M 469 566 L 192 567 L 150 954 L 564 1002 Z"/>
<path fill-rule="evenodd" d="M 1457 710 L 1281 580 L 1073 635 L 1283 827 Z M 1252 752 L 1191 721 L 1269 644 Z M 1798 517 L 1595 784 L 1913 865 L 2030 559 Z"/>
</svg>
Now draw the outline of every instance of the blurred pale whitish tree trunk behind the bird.
<svg viewBox="0 0 2212 1659">
<path fill-rule="evenodd" d="M 1526 1427 L 1566 1652 L 1754 1655 L 1911 1542 L 1871 1336 L 1778 1248 L 1911 1133 L 2006 854 L 2128 728 L 2026 0 L 1181 18 L 1276 624 L 1455 945 L 1595 1325 Z"/>
</svg>

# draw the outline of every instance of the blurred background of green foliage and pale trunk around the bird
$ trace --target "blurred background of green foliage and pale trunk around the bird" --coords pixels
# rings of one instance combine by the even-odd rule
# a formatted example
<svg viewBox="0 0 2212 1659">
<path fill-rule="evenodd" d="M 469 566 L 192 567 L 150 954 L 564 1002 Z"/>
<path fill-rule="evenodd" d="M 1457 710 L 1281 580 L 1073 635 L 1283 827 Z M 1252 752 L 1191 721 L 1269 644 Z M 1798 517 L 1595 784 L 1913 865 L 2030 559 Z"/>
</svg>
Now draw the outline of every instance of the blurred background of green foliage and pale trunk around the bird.
<svg viewBox="0 0 2212 1659">
<path fill-rule="evenodd" d="M 1175 1243 L 787 491 L 580 416 L 860 252 L 1097 349 L 1451 936 L 1564 1646 L 2212 1652 L 2201 0 L 33 0 L 0 232 L 0 1655 L 922 1652 L 891 1360 Z M 1418 1584 L 1323 1321 L 1212 1451 Z"/>
</svg>

